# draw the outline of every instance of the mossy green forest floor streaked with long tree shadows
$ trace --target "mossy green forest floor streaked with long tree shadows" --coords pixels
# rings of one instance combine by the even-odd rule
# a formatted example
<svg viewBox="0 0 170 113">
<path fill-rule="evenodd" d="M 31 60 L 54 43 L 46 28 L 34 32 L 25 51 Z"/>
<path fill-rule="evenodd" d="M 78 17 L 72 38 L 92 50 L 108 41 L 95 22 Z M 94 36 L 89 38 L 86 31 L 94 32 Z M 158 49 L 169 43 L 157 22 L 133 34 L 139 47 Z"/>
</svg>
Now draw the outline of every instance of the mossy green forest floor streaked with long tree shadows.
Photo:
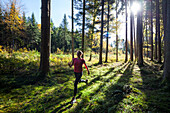
<svg viewBox="0 0 170 113">
<path fill-rule="evenodd" d="M 0 112 L 119 113 L 170 112 L 170 91 L 162 83 L 160 64 L 147 59 L 144 66 L 120 59 L 97 64 L 85 56 L 89 84 L 78 84 L 77 102 L 70 101 L 74 90 L 74 72 L 67 63 L 70 55 L 51 55 L 50 74 L 38 73 L 39 53 L 0 52 Z"/>
</svg>

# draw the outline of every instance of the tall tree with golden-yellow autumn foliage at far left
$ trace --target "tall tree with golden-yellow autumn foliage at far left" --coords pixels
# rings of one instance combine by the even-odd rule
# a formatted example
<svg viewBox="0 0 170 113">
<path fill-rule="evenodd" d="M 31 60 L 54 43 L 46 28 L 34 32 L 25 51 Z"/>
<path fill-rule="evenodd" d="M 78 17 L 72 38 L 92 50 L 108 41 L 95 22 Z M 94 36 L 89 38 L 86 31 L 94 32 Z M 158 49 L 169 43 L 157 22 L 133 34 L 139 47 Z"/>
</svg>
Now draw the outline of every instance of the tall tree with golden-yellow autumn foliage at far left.
<svg viewBox="0 0 170 113">
<path fill-rule="evenodd" d="M 1 10 L 3 16 L 3 36 L 1 40 L 2 44 L 8 45 L 13 49 L 17 49 L 21 45 L 19 36 L 22 34 L 22 19 L 20 17 L 20 7 L 16 5 L 16 1 L 10 1 L 9 6 L 6 6 L 6 10 Z"/>
</svg>

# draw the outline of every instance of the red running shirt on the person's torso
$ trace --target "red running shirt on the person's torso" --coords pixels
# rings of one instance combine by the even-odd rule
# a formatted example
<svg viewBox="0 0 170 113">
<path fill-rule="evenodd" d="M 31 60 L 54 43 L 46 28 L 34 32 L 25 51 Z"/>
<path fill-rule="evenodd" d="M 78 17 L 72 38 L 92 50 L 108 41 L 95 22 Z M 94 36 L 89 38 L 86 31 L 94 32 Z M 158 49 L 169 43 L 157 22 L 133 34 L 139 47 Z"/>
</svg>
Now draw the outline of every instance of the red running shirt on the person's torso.
<svg viewBox="0 0 170 113">
<path fill-rule="evenodd" d="M 78 59 L 78 58 L 73 58 L 73 63 L 74 63 L 74 72 L 76 73 L 81 73 L 83 71 L 82 65 L 85 63 L 85 60 Z"/>
</svg>

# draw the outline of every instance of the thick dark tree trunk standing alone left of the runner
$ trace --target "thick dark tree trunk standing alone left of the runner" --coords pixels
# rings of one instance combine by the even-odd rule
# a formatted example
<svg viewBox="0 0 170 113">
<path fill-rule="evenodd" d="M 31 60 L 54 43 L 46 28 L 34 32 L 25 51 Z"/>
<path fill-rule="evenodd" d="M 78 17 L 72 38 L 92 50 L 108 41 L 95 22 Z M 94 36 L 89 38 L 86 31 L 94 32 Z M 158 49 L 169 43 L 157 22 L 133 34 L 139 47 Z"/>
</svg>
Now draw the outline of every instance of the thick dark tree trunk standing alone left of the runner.
<svg viewBox="0 0 170 113">
<path fill-rule="evenodd" d="M 47 75 L 49 72 L 50 56 L 50 8 L 51 0 L 41 0 L 41 59 L 40 72 Z"/>
</svg>

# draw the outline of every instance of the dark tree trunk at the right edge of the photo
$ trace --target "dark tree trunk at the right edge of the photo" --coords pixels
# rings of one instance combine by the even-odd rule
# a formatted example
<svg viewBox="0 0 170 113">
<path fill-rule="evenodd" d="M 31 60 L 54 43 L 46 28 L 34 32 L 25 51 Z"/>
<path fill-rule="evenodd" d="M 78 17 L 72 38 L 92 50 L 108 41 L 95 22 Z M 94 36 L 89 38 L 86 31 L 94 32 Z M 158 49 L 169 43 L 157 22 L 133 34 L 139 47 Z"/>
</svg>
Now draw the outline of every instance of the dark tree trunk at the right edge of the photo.
<svg viewBox="0 0 170 113">
<path fill-rule="evenodd" d="M 164 80 L 170 84 L 170 0 L 167 0 L 167 29 L 165 37 L 165 62 L 164 62 Z"/>
</svg>

